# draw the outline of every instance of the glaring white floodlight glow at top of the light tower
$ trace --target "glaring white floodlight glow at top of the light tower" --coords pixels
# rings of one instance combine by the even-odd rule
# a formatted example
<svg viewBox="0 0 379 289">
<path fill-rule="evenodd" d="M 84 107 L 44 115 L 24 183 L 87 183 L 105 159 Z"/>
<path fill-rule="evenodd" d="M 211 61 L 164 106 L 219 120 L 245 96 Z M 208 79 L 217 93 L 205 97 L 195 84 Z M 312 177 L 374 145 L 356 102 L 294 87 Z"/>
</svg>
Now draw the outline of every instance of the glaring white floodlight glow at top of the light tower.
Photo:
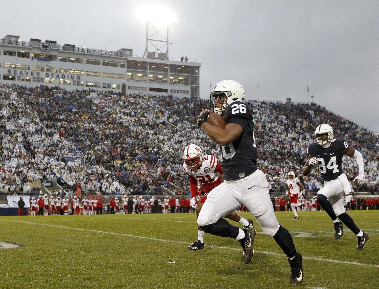
<svg viewBox="0 0 379 289">
<path fill-rule="evenodd" d="M 157 27 L 168 27 L 178 22 L 178 14 L 170 9 L 157 6 L 143 4 L 136 9 L 137 19 L 145 20 Z"/>
</svg>

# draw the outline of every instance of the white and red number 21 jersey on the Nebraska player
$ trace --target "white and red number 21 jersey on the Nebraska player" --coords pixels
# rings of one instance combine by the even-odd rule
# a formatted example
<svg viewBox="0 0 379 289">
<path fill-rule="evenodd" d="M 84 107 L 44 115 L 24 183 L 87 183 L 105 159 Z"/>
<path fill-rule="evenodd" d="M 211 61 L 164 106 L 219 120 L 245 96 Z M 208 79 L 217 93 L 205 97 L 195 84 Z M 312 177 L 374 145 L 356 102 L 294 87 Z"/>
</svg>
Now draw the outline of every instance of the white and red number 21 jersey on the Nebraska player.
<svg viewBox="0 0 379 289">
<path fill-rule="evenodd" d="M 191 197 L 195 197 L 197 193 L 197 181 L 202 184 L 202 191 L 208 194 L 211 190 L 216 188 L 222 180 L 222 168 L 220 163 L 213 155 L 205 155 L 201 166 L 192 171 L 189 166 L 184 162 L 183 171 L 188 174 L 189 182 L 191 184 Z"/>
</svg>

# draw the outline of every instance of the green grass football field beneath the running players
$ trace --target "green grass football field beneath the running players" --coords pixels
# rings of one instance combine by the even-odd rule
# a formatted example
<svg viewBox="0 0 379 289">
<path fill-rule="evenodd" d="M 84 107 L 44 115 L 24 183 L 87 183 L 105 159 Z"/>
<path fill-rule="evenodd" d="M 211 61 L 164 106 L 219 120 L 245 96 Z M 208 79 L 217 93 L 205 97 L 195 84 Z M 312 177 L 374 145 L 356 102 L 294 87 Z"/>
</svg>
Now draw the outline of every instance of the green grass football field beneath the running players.
<svg viewBox="0 0 379 289">
<path fill-rule="evenodd" d="M 324 211 L 299 212 L 298 220 L 276 213 L 303 255 L 303 288 L 379 288 L 379 211 L 349 214 L 370 235 L 362 251 L 347 228 L 334 239 Z M 234 239 L 205 234 L 204 250 L 187 250 L 197 236 L 195 214 L 0 217 L 0 242 L 22 245 L 0 249 L 0 288 L 293 287 L 286 256 L 254 224 L 246 265 Z"/>
</svg>

